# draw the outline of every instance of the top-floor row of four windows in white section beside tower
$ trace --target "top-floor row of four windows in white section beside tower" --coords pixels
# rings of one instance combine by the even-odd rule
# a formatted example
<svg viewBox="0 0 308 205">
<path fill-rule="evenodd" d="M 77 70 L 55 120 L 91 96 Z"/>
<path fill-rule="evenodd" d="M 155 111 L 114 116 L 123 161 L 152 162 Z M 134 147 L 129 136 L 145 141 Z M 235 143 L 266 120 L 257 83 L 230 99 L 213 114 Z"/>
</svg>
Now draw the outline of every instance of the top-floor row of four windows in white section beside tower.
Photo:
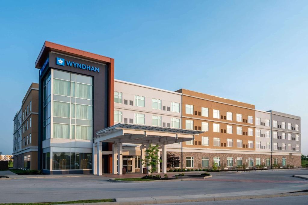
<svg viewBox="0 0 308 205">
<path fill-rule="evenodd" d="M 115 103 L 123 103 L 123 93 L 122 92 L 114 92 L 114 102 Z M 127 100 L 124 100 L 124 104 L 127 105 L 128 102 Z M 130 100 L 129 105 L 132 105 L 133 101 Z M 145 107 L 145 97 L 144 96 L 138 96 L 135 95 L 135 106 L 138 107 Z M 165 106 L 161 105 L 161 100 L 160 99 L 155 99 L 152 98 L 152 109 L 157 109 L 157 110 L 165 110 Z M 170 111 L 170 107 L 167 107 L 167 111 Z M 180 113 L 180 103 L 177 102 L 171 102 L 171 112 L 175 113 Z"/>
</svg>

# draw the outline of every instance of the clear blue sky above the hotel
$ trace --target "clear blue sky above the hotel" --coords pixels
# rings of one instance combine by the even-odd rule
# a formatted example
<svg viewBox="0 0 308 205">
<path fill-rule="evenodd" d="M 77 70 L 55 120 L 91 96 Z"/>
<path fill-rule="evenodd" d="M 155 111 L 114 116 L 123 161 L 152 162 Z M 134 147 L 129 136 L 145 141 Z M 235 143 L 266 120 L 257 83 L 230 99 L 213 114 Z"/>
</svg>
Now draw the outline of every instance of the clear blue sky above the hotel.
<svg viewBox="0 0 308 205">
<path fill-rule="evenodd" d="M 308 154 L 307 1 L 5 1 L 0 151 L 45 40 L 115 58 L 115 78 L 191 89 L 302 117 Z"/>
</svg>

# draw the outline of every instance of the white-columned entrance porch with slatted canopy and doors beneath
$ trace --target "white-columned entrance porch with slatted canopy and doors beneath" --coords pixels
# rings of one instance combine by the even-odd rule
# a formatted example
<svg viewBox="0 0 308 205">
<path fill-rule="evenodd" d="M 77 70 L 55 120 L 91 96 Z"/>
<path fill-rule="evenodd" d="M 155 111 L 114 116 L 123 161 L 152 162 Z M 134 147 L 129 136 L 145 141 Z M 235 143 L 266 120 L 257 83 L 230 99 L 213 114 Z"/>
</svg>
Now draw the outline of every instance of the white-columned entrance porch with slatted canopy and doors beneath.
<svg viewBox="0 0 308 205">
<path fill-rule="evenodd" d="M 97 137 L 93 143 L 93 174 L 102 175 L 104 172 L 102 161 L 102 143 L 112 144 L 112 173 L 122 174 L 125 167 L 126 172 L 139 172 L 146 166 L 142 164 L 146 151 L 150 144 L 158 145 L 162 173 L 167 173 L 167 145 L 191 141 L 195 135 L 203 131 L 165 128 L 148 125 L 134 125 L 119 123 L 96 132 Z M 138 163 L 139 165 L 136 165 Z M 157 165 L 160 172 L 160 164 Z M 139 168 L 138 168 L 139 167 Z M 146 167 L 149 170 L 150 167 Z M 104 172 L 105 173 L 105 172 Z"/>
</svg>

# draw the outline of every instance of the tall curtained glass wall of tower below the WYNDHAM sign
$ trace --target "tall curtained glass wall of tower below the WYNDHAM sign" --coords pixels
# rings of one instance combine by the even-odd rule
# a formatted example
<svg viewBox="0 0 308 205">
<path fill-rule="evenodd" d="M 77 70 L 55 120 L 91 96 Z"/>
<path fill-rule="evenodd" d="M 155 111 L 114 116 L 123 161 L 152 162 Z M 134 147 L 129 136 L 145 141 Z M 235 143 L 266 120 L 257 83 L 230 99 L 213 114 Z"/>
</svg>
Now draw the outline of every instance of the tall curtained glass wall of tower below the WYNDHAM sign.
<svg viewBox="0 0 308 205">
<path fill-rule="evenodd" d="M 92 93 L 92 77 L 53 70 L 52 138 L 92 140 Z"/>
</svg>

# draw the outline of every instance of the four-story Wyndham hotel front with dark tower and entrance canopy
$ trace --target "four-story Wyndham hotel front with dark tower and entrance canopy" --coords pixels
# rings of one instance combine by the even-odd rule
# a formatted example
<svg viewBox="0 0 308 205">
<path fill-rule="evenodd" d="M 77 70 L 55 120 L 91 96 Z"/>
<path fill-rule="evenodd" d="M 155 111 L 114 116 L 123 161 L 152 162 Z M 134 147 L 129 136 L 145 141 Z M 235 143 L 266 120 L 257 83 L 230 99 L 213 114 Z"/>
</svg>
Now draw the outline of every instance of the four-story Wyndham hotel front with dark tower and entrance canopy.
<svg viewBox="0 0 308 205">
<path fill-rule="evenodd" d="M 43 173 L 100 175 L 120 173 L 122 166 L 140 172 L 148 143 L 159 145 L 163 161 L 166 153 L 174 154 L 180 163 L 173 168 L 301 164 L 300 117 L 185 89 L 114 80 L 114 59 L 50 42 L 35 67 L 40 69 L 38 167 Z M 21 112 L 23 143 L 24 106 Z M 280 138 L 284 130 L 286 137 L 291 134 L 287 142 Z"/>
</svg>

